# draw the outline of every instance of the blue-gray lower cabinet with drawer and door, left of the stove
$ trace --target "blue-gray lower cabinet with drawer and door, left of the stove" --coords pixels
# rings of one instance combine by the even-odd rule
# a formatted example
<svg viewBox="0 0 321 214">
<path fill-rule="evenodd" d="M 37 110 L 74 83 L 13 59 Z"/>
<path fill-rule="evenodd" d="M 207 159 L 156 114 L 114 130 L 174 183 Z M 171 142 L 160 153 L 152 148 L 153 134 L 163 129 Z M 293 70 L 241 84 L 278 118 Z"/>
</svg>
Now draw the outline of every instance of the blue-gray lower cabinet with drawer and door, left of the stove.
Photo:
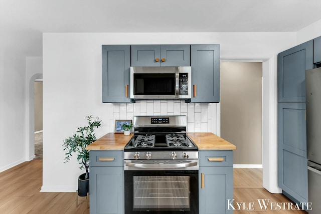
<svg viewBox="0 0 321 214">
<path fill-rule="evenodd" d="M 124 214 L 123 151 L 90 151 L 90 213 Z"/>
</svg>

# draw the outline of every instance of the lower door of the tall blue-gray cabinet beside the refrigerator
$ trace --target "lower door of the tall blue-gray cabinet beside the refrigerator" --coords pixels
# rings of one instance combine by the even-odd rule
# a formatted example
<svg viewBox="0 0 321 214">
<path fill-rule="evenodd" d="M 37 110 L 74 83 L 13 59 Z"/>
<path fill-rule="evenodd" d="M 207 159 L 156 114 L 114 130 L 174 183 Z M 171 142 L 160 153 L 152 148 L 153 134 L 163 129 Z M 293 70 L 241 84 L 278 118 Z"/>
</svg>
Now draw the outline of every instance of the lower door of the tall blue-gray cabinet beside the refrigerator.
<svg viewBox="0 0 321 214">
<path fill-rule="evenodd" d="M 295 202 L 307 202 L 304 103 L 278 104 L 278 185 Z"/>
</svg>

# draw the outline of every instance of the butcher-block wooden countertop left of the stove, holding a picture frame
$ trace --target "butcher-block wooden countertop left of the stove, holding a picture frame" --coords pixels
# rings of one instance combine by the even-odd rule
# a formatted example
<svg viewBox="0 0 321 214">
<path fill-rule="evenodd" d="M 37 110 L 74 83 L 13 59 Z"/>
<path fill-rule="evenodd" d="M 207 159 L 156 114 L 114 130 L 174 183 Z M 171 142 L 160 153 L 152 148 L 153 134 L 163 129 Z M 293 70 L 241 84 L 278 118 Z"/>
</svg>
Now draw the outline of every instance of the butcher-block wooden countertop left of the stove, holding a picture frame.
<svg viewBox="0 0 321 214">
<path fill-rule="evenodd" d="M 131 139 L 132 134 L 108 133 L 92 144 L 87 146 L 87 150 L 124 150 L 125 145 Z"/>
</svg>

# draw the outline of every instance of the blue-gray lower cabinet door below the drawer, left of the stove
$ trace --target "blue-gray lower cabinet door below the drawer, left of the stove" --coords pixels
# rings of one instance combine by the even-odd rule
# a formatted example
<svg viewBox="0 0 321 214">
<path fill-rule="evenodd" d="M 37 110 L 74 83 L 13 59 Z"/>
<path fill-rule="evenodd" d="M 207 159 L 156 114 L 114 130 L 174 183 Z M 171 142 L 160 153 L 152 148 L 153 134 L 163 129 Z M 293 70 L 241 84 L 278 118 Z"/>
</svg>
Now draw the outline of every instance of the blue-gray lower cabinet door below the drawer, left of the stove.
<svg viewBox="0 0 321 214">
<path fill-rule="evenodd" d="M 124 213 L 124 167 L 90 167 L 90 213 Z"/>
</svg>

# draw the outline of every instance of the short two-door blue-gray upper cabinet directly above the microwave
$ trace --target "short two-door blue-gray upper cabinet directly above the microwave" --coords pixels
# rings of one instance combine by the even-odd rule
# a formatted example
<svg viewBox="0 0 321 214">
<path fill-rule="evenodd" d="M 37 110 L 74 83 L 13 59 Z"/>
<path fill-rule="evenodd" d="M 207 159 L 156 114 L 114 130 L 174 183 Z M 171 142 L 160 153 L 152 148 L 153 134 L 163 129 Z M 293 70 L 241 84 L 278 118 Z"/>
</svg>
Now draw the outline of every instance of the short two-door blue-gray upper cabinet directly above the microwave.
<svg viewBox="0 0 321 214">
<path fill-rule="evenodd" d="M 190 66 L 190 45 L 132 45 L 131 66 Z"/>
</svg>

